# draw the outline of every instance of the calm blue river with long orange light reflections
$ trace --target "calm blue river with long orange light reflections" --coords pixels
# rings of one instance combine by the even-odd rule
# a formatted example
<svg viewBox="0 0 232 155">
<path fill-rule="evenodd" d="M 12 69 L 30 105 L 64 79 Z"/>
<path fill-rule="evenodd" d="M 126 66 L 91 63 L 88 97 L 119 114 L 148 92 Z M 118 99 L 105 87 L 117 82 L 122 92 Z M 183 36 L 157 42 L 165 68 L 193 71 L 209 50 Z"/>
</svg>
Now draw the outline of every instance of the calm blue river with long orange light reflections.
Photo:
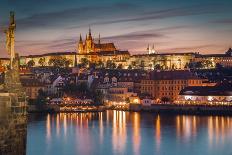
<svg viewBox="0 0 232 155">
<path fill-rule="evenodd" d="M 30 115 L 28 155 L 232 155 L 232 117 L 101 113 Z"/>
</svg>

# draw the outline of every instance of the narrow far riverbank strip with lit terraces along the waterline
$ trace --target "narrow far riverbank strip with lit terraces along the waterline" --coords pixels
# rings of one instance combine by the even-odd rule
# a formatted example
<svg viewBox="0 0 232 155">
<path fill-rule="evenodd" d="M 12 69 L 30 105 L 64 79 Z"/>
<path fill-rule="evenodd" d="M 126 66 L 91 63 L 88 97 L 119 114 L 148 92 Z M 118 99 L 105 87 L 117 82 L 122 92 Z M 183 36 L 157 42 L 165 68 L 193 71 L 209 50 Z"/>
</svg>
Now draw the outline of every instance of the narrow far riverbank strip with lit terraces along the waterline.
<svg viewBox="0 0 232 155">
<path fill-rule="evenodd" d="M 58 105 L 44 105 L 37 107 L 29 105 L 29 113 L 83 113 L 83 112 L 103 112 L 105 110 L 132 111 L 132 112 L 152 112 L 167 114 L 193 114 L 193 115 L 232 115 L 232 106 L 210 106 L 210 105 L 176 105 L 176 104 L 152 104 L 143 106 L 141 104 L 130 104 L 128 106 L 91 106 L 60 108 Z"/>
</svg>

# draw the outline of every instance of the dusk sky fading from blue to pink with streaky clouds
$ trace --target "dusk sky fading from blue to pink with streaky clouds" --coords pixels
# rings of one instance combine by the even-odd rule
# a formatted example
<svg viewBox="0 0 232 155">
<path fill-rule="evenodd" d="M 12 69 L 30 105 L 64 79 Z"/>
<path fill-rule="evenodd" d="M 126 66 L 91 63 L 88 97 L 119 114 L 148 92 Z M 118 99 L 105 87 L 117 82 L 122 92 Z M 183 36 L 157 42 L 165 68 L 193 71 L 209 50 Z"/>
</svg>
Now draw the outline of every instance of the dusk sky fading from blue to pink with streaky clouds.
<svg viewBox="0 0 232 155">
<path fill-rule="evenodd" d="M 21 55 L 75 51 L 91 26 L 95 38 L 132 54 L 155 44 L 159 53 L 224 53 L 232 46 L 231 0 L 1 0 L 3 28 L 16 13 L 16 50 Z"/>
</svg>

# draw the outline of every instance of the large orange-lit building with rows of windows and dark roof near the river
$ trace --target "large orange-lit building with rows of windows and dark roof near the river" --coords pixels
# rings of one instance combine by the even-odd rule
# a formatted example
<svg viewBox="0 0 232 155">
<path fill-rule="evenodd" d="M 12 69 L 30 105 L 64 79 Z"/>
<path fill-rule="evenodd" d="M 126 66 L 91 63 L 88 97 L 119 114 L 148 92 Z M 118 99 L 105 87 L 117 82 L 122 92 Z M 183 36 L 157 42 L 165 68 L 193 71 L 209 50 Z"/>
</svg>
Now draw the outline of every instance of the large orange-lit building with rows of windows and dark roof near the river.
<svg viewBox="0 0 232 155">
<path fill-rule="evenodd" d="M 202 86 L 204 81 L 206 79 L 200 79 L 187 70 L 152 71 L 141 80 L 141 93 L 150 94 L 156 102 L 170 102 L 176 100 L 185 87 Z"/>
</svg>

